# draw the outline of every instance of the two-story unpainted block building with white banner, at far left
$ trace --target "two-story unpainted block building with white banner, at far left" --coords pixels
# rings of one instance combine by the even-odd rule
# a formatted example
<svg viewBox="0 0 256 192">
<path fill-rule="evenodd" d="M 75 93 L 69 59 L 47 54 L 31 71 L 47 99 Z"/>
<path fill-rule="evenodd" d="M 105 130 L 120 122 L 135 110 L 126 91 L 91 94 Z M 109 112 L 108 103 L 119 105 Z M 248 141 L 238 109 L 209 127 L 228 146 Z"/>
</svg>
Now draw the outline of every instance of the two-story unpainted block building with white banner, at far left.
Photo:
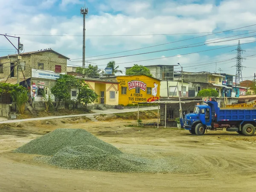
<svg viewBox="0 0 256 192">
<path fill-rule="evenodd" d="M 42 92 L 48 92 L 55 85 L 60 73 L 67 73 L 68 59 L 52 49 L 20 53 L 19 60 L 17 54 L 2 56 L 0 82 L 28 85 L 34 101 L 42 101 Z"/>
</svg>

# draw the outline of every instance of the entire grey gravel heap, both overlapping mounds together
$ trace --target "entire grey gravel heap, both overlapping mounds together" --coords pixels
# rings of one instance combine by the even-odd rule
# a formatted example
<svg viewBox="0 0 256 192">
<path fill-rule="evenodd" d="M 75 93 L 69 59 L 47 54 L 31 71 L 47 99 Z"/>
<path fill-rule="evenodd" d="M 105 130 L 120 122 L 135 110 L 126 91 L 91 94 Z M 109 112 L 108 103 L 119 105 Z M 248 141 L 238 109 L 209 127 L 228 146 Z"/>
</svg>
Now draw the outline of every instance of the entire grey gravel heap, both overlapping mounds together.
<svg viewBox="0 0 256 192">
<path fill-rule="evenodd" d="M 56 129 L 17 148 L 14 152 L 41 154 L 36 161 L 63 169 L 107 172 L 172 172 L 165 160 L 124 154 L 82 129 Z"/>
</svg>

